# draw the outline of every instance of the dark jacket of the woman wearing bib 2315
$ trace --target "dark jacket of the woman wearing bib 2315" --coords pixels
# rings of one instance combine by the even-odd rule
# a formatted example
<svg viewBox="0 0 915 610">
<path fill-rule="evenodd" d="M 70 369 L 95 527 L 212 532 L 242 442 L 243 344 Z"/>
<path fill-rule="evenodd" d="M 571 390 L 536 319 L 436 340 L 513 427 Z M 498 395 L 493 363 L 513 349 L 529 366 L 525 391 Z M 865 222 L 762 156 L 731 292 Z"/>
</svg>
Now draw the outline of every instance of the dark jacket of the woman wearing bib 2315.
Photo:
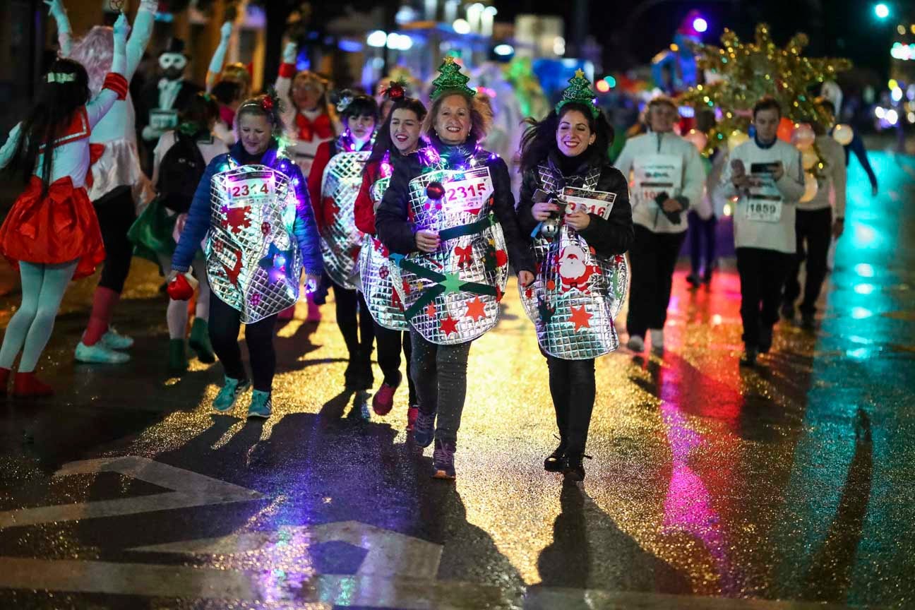
<svg viewBox="0 0 915 610">
<path fill-rule="evenodd" d="M 454 157 L 455 149 L 433 141 L 439 155 L 447 157 L 454 163 L 463 161 Z M 468 143 L 466 148 L 473 150 L 473 143 Z M 501 224 L 502 233 L 505 235 L 505 244 L 508 248 L 509 262 L 514 270 L 529 271 L 533 273 L 533 252 L 530 244 L 524 239 L 518 227 L 518 218 L 514 210 L 514 197 L 511 195 L 511 178 L 509 168 L 505 161 L 497 155 L 490 155 L 486 161 L 490 168 L 493 187 L 493 212 Z M 398 254 L 410 254 L 418 251 L 416 248 L 415 228 L 407 219 L 407 210 L 410 205 L 410 180 L 422 174 L 422 168 L 414 164 L 401 163 L 394 166 L 391 184 L 386 191 L 382 203 L 375 214 L 375 229 L 378 230 L 378 239 L 388 250 Z"/>
</svg>

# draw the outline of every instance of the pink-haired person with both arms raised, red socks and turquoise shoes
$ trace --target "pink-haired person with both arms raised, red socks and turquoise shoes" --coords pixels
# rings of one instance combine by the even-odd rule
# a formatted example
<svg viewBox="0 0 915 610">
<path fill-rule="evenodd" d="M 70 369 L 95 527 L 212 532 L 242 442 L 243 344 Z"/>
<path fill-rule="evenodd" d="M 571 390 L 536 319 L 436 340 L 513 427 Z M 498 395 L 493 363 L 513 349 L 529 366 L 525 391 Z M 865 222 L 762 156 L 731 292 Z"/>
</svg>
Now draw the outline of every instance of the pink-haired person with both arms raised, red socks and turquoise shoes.
<svg viewBox="0 0 915 610">
<path fill-rule="evenodd" d="M 90 91 L 92 95 L 97 95 L 112 65 L 111 27 L 92 27 L 84 37 L 74 42 L 70 37 L 67 12 L 60 0 L 47 4 L 58 24 L 60 54 L 79 61 L 86 68 Z M 127 40 L 124 78 L 128 82 L 143 59 L 153 33 L 155 16 L 154 0 L 140 3 L 133 31 Z M 131 337 L 118 335 L 111 327 L 114 308 L 121 300 L 124 280 L 130 272 L 133 245 L 127 239 L 127 230 L 136 219 L 135 202 L 144 197 L 149 184 L 140 169 L 134 123 L 134 102 L 128 91 L 127 99 L 114 102 L 111 112 L 92 128 L 89 138 L 93 163 L 92 180 L 87 182 L 86 190 L 102 230 L 105 264 L 92 297 L 89 323 L 75 350 L 75 358 L 81 362 L 127 362 L 130 356 L 117 350 L 134 344 Z"/>
</svg>

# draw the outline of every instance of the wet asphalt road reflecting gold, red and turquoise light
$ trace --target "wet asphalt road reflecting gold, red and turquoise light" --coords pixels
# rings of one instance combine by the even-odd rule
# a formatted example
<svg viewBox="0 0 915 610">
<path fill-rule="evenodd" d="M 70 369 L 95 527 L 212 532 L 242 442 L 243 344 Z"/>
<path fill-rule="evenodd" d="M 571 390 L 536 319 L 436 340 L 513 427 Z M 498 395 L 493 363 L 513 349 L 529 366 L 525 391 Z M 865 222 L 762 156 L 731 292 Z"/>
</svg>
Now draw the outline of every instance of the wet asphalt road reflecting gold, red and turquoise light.
<svg viewBox="0 0 915 610">
<path fill-rule="evenodd" d="M 405 388 L 383 418 L 342 391 L 332 306 L 280 329 L 274 415 L 246 423 L 246 401 L 209 408 L 218 366 L 165 374 L 145 262 L 118 318 L 134 361 L 74 365 L 78 284 L 43 361 L 59 396 L 0 407 L 0 608 L 915 607 L 915 159 L 874 161 L 819 333 L 781 323 L 741 370 L 737 274 L 678 272 L 663 358 L 597 362 L 580 486 L 542 469 L 546 366 L 512 290 L 471 349 L 447 484 Z"/>
</svg>

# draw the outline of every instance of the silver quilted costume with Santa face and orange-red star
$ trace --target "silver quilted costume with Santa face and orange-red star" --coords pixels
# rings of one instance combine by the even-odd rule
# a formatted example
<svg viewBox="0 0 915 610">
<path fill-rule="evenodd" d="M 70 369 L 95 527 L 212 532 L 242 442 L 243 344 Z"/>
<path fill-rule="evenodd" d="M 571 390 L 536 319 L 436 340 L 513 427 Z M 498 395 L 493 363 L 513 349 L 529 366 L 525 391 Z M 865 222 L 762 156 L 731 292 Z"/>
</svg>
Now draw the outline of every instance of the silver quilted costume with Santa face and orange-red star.
<svg viewBox="0 0 915 610">
<path fill-rule="evenodd" d="M 562 179 L 552 164 L 538 166 L 537 172 L 544 190 L 558 197 Z M 599 178 L 600 168 L 592 169 L 581 188 L 593 191 Z M 598 255 L 565 222 L 552 240 L 538 232 L 533 249 L 537 273 L 532 285 L 519 285 L 519 292 L 540 347 L 569 360 L 594 359 L 618 348 L 613 319 L 626 297 L 625 257 Z"/>
</svg>

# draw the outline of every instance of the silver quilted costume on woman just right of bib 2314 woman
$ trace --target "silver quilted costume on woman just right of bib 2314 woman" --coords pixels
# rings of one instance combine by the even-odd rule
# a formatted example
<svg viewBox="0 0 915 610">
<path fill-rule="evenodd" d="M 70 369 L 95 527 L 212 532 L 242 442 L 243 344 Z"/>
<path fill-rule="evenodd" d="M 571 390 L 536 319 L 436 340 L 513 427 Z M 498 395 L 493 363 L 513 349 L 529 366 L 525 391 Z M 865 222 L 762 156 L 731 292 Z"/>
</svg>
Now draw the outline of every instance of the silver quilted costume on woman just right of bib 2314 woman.
<svg viewBox="0 0 915 610">
<path fill-rule="evenodd" d="M 349 290 L 359 287 L 356 262 L 362 246 L 363 233 L 356 228 L 354 206 L 362 186 L 362 167 L 371 151 L 338 153 L 324 168 L 321 196 L 334 200 L 333 218 L 326 219 L 321 229 L 321 257 L 324 271 L 336 284 Z M 320 205 L 315 202 L 313 205 Z"/>
</svg>

